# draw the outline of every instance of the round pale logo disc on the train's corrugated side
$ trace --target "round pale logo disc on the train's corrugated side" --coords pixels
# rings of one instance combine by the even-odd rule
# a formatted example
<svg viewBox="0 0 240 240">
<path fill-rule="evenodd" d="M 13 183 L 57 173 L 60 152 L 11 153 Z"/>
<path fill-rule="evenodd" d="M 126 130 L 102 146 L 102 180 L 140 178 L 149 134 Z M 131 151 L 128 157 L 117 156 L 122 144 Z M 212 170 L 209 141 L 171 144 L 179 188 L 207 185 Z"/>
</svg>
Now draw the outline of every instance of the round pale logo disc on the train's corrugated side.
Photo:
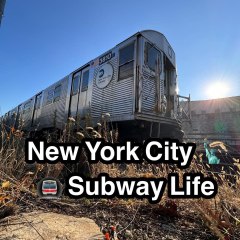
<svg viewBox="0 0 240 240">
<path fill-rule="evenodd" d="M 112 80 L 113 67 L 110 63 L 102 65 L 96 76 L 96 85 L 98 88 L 105 88 Z"/>
</svg>

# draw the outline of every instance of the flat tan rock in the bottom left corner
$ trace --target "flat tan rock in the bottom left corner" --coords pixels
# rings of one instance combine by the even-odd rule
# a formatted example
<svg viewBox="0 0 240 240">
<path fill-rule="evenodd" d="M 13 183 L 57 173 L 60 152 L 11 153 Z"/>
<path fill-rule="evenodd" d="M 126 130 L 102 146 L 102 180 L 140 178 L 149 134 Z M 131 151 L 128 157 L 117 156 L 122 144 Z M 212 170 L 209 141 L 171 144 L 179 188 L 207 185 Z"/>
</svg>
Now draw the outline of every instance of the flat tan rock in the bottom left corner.
<svg viewBox="0 0 240 240">
<path fill-rule="evenodd" d="M 100 229 L 89 218 L 35 211 L 15 215 L 0 223 L 1 240 L 97 240 Z"/>
</svg>

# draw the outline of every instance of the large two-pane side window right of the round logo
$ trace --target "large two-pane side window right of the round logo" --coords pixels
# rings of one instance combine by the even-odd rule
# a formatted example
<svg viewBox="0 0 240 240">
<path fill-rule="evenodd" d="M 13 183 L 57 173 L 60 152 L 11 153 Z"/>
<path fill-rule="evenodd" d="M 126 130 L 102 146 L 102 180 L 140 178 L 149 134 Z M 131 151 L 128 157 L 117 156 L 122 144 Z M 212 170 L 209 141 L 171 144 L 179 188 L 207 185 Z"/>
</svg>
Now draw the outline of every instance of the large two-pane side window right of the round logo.
<svg viewBox="0 0 240 240">
<path fill-rule="evenodd" d="M 119 50 L 118 79 L 126 79 L 133 76 L 134 42 Z"/>
</svg>

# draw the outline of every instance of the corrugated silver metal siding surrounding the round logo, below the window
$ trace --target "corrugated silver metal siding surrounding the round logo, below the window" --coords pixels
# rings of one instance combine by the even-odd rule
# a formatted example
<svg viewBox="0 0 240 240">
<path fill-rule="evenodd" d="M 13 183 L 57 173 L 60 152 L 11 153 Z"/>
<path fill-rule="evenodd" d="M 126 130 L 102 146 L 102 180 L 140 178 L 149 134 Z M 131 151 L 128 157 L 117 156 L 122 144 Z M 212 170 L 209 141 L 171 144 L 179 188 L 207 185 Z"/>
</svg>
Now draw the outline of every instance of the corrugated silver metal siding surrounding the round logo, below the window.
<svg viewBox="0 0 240 240">
<path fill-rule="evenodd" d="M 109 85 L 100 89 L 96 85 L 96 76 L 99 66 L 95 69 L 91 113 L 99 118 L 103 113 L 110 113 L 112 117 L 123 114 L 133 114 L 133 77 L 117 81 L 118 57 L 109 62 L 113 66 L 113 79 Z"/>
</svg>

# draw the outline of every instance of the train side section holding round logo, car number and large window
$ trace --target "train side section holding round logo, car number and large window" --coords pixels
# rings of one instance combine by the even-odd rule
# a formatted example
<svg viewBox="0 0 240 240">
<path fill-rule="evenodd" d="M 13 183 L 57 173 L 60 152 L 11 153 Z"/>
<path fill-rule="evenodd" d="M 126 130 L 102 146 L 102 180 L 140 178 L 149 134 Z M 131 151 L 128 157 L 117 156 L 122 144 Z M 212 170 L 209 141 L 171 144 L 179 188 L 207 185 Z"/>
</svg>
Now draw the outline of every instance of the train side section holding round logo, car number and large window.
<svg viewBox="0 0 240 240">
<path fill-rule="evenodd" d="M 112 121 L 133 119 L 135 48 L 136 37 L 132 37 L 93 61 L 93 118 L 109 113 Z"/>
</svg>

